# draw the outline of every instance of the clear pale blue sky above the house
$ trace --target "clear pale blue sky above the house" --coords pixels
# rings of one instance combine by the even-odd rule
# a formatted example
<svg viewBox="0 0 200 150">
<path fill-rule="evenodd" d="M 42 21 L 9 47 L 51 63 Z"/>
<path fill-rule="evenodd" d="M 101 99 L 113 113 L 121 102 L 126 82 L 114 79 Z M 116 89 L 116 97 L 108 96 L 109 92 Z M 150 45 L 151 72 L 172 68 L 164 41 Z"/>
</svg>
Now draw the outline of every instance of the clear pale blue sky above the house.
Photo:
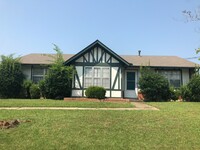
<svg viewBox="0 0 200 150">
<path fill-rule="evenodd" d="M 0 0 L 0 55 L 76 54 L 100 40 L 119 55 L 200 56 L 199 0 Z M 200 63 L 197 59 L 188 59 Z"/>
</svg>

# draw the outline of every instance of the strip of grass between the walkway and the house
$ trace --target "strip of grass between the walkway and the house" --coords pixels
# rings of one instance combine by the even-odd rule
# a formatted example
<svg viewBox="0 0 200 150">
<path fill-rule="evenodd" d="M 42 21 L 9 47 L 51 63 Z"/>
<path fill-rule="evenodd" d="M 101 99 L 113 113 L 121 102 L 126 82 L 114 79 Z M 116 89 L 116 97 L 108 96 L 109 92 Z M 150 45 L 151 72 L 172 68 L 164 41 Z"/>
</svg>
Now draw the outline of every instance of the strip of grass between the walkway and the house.
<svg viewBox="0 0 200 150">
<path fill-rule="evenodd" d="M 87 107 L 87 108 L 129 108 L 131 103 L 77 102 L 63 100 L 0 99 L 0 107 Z"/>
</svg>

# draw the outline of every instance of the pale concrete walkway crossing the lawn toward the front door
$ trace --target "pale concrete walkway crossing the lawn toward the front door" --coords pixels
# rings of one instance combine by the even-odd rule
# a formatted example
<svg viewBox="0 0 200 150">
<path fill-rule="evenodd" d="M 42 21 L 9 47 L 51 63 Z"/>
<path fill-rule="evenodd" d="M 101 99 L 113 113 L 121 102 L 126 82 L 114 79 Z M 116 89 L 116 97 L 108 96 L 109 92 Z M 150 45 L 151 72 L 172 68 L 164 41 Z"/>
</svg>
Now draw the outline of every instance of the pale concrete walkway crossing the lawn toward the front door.
<svg viewBox="0 0 200 150">
<path fill-rule="evenodd" d="M 159 110 L 143 102 L 131 102 L 134 108 L 80 108 L 80 107 L 0 107 L 0 110 Z"/>
</svg>

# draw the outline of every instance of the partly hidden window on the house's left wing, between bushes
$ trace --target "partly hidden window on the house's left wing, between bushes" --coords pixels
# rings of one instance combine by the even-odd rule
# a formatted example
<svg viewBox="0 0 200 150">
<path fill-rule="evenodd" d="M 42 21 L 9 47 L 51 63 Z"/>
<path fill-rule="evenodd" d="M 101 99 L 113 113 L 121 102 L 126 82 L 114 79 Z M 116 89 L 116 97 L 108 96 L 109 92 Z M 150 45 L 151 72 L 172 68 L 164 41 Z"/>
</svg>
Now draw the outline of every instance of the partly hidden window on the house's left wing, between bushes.
<svg viewBox="0 0 200 150">
<path fill-rule="evenodd" d="M 44 79 L 44 76 L 46 75 L 46 69 L 45 68 L 33 68 L 32 69 L 32 80 L 34 83 L 38 83 L 40 80 Z"/>
</svg>

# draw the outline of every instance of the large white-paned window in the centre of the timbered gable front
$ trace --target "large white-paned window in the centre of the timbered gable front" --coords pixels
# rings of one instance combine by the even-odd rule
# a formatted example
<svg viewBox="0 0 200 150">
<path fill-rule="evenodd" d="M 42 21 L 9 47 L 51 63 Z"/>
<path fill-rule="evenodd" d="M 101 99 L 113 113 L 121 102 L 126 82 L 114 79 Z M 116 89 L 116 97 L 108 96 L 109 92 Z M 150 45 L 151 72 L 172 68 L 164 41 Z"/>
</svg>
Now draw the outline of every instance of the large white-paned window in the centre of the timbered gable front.
<svg viewBox="0 0 200 150">
<path fill-rule="evenodd" d="M 109 67 L 85 67 L 85 88 L 89 86 L 102 86 L 110 88 Z"/>
</svg>

